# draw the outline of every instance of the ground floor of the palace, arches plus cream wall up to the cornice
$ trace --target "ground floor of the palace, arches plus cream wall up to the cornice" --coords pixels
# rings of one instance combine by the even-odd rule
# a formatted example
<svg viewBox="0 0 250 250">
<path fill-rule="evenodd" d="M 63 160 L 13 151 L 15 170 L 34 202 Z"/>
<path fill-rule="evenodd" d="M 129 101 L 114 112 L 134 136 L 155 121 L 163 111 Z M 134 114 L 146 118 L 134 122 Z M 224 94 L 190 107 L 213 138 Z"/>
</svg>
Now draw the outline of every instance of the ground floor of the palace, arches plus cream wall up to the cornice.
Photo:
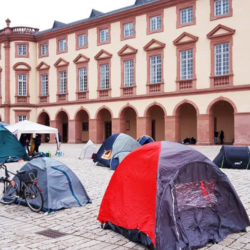
<svg viewBox="0 0 250 250">
<path fill-rule="evenodd" d="M 250 93 L 116 99 L 48 105 L 36 110 L 23 107 L 9 112 L 13 117 L 26 112 L 28 119 L 58 128 L 65 143 L 89 139 L 102 143 L 111 134 L 123 132 L 135 139 L 149 135 L 157 141 L 181 142 L 193 137 L 197 144 L 210 145 L 215 142 L 215 132 L 223 130 L 225 144 L 250 145 L 250 106 L 244 95 Z M 3 114 L 0 110 L 2 121 Z"/>
</svg>

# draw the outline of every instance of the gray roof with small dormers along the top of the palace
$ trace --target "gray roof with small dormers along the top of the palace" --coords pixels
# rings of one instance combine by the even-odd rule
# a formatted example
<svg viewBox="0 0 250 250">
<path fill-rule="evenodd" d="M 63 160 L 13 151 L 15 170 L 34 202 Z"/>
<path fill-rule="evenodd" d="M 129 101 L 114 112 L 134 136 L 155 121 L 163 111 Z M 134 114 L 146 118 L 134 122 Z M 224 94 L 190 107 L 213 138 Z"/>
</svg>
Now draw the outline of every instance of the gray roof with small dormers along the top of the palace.
<svg viewBox="0 0 250 250">
<path fill-rule="evenodd" d="M 134 5 L 123 7 L 123 8 L 113 10 L 113 11 L 110 11 L 110 12 L 107 12 L 107 13 L 103 13 L 103 12 L 97 11 L 95 9 L 92 9 L 89 18 L 81 19 L 81 20 L 74 21 L 74 22 L 71 22 L 71 23 L 68 23 L 68 24 L 65 24 L 65 23 L 62 23 L 62 22 L 59 22 L 59 21 L 54 21 L 54 24 L 53 24 L 52 28 L 47 29 L 47 30 L 43 30 L 43 31 L 39 31 L 39 32 L 35 33 L 35 36 L 46 34 L 48 32 L 52 32 L 52 31 L 55 31 L 55 30 L 58 30 L 58 29 L 71 27 L 71 26 L 74 26 L 74 25 L 77 25 L 77 24 L 87 23 L 88 21 L 91 21 L 91 20 L 94 20 L 94 19 L 98 19 L 98 18 L 105 17 L 105 16 L 110 16 L 110 15 L 113 15 L 113 14 L 116 14 L 116 13 L 120 13 L 120 12 L 123 12 L 123 11 L 126 11 L 126 10 L 130 10 L 130 9 L 135 9 L 135 8 L 138 8 L 139 6 L 150 4 L 150 3 L 153 3 L 153 2 L 157 2 L 157 1 L 160 1 L 160 0 L 136 0 Z"/>
</svg>

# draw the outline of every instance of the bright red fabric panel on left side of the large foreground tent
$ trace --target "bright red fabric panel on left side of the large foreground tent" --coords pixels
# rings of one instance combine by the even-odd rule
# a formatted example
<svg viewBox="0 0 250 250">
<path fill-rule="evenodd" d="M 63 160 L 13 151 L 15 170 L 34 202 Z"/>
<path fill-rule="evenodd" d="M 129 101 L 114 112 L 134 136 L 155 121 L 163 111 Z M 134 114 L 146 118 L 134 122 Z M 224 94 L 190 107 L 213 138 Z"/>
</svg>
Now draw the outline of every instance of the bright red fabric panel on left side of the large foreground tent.
<svg viewBox="0 0 250 250">
<path fill-rule="evenodd" d="M 152 145 L 154 144 L 154 145 Z M 160 142 L 131 152 L 115 170 L 98 220 L 147 234 L 155 245 L 155 207 Z"/>
</svg>

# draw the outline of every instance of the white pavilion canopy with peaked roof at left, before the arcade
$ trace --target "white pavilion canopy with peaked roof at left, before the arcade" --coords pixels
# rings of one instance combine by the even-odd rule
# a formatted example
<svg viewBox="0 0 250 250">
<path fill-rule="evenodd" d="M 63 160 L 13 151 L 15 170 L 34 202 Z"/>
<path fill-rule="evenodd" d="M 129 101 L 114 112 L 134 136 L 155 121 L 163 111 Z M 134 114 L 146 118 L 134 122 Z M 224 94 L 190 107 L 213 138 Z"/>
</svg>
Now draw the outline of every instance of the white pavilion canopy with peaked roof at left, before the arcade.
<svg viewBox="0 0 250 250">
<path fill-rule="evenodd" d="M 59 150 L 59 140 L 58 140 L 58 129 L 45 126 L 36 122 L 31 122 L 28 120 L 24 120 L 21 122 L 17 122 L 13 125 L 8 125 L 7 128 L 12 134 L 16 135 L 19 140 L 22 134 L 55 134 L 57 149 Z"/>
</svg>

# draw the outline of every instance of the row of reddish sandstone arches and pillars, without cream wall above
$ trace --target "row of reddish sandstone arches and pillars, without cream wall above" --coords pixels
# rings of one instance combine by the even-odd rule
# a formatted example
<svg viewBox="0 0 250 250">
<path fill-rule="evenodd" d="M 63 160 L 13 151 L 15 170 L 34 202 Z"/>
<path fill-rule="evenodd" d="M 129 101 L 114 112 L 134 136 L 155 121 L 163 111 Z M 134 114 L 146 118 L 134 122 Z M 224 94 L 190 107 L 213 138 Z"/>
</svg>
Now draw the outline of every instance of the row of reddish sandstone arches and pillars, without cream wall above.
<svg viewBox="0 0 250 250">
<path fill-rule="evenodd" d="M 68 143 L 89 139 L 102 143 L 111 134 L 123 132 L 135 139 L 149 135 L 158 141 L 181 142 L 193 137 L 197 144 L 209 145 L 215 142 L 215 131 L 220 134 L 223 130 L 225 144 L 250 144 L 250 134 L 246 130 L 250 112 L 238 112 L 237 106 L 228 98 L 220 97 L 209 103 L 206 113 L 201 113 L 199 105 L 190 100 L 178 103 L 172 114 L 161 101 L 144 106 L 143 112 L 139 112 L 132 102 L 122 105 L 119 110 L 117 106 L 115 103 L 100 104 L 93 109 L 81 106 L 74 114 L 65 106 L 55 112 L 54 119 L 49 109 L 43 109 L 37 121 L 57 127 L 62 141 Z"/>
</svg>

